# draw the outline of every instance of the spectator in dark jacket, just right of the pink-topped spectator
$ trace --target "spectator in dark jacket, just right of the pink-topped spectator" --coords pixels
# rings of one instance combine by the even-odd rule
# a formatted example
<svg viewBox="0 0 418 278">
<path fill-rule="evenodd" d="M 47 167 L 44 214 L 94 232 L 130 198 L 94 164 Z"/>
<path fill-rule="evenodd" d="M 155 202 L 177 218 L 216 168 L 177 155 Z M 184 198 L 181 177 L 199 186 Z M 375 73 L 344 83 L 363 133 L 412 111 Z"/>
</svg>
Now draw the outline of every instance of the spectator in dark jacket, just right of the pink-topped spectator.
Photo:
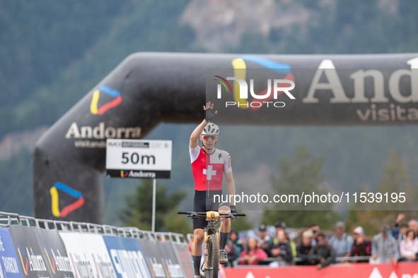
<svg viewBox="0 0 418 278">
<path fill-rule="evenodd" d="M 293 255 L 283 229 L 277 229 L 277 236 L 269 241 L 267 254 L 269 257 L 277 258 L 279 266 L 290 265 Z"/>
</svg>

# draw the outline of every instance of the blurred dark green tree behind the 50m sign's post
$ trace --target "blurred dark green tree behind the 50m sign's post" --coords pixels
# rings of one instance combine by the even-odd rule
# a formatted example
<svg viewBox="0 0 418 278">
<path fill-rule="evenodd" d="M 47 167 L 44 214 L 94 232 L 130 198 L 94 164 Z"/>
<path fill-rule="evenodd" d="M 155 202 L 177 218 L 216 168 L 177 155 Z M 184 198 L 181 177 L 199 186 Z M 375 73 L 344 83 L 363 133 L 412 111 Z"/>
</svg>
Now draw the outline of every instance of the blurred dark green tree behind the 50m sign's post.
<svg viewBox="0 0 418 278">
<path fill-rule="evenodd" d="M 152 223 L 152 193 L 151 179 L 145 179 L 137 186 L 134 195 L 126 195 L 127 207 L 122 211 L 120 218 L 127 226 L 137 226 L 139 229 L 151 230 Z M 177 206 L 185 198 L 185 191 L 175 191 L 168 195 L 167 186 L 158 185 L 156 188 L 156 231 L 163 231 L 165 217 L 177 212 Z M 167 222 L 166 222 L 167 223 Z"/>
</svg>

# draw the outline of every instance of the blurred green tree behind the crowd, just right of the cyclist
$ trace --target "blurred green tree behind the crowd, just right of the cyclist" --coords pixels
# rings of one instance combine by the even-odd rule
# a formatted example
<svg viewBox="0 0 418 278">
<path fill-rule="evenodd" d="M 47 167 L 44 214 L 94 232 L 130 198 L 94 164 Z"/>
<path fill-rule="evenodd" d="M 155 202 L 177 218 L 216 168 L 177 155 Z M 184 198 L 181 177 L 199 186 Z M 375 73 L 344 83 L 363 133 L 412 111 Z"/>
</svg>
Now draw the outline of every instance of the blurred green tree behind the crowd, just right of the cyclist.
<svg viewBox="0 0 418 278">
<path fill-rule="evenodd" d="M 327 194 L 325 188 L 320 186 L 324 182 L 321 169 L 324 157 L 314 157 L 304 145 L 298 145 L 296 156 L 293 159 L 281 159 L 279 177 L 272 175 L 272 191 L 279 195 L 294 195 L 301 193 Z M 271 198 L 271 199 L 270 199 Z M 272 200 L 272 196 L 269 197 Z M 332 203 L 316 203 L 315 210 L 303 210 L 297 203 L 274 203 L 265 210 L 262 223 L 274 224 L 278 220 L 286 222 L 287 226 L 308 226 L 317 222 L 321 227 L 328 229 L 337 221 L 339 214 L 332 211 Z"/>
</svg>

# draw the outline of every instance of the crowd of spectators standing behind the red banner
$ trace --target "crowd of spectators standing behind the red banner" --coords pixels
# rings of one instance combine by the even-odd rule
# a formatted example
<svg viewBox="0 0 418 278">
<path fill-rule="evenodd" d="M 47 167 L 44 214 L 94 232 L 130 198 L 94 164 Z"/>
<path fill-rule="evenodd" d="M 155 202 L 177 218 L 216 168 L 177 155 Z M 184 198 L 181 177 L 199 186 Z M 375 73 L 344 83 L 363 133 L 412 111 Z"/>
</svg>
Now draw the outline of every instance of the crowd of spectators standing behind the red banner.
<svg viewBox="0 0 418 278">
<path fill-rule="evenodd" d="M 381 226 L 381 232 L 368 238 L 364 229 L 357 226 L 346 233 L 344 222 L 335 224 L 335 234 L 325 235 L 316 223 L 310 224 L 295 244 L 286 232 L 286 224 L 277 222 L 275 233 L 269 234 L 267 226 L 261 225 L 257 236 L 240 238 L 237 230 L 231 230 L 226 246 L 228 260 L 233 265 L 315 265 L 318 270 L 332 263 L 345 262 L 391 262 L 417 261 L 418 221 L 405 222 L 400 213 L 395 226 Z M 352 236 L 350 235 L 352 234 Z"/>
</svg>

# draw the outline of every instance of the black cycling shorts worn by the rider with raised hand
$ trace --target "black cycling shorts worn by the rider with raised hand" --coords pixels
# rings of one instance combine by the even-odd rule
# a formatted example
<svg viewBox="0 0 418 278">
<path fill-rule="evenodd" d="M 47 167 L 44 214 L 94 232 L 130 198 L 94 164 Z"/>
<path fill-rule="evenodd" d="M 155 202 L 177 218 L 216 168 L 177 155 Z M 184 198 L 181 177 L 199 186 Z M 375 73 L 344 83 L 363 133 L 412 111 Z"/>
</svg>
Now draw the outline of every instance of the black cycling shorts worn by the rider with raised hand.
<svg viewBox="0 0 418 278">
<path fill-rule="evenodd" d="M 216 197 L 214 202 L 214 195 L 219 195 L 220 198 Z M 193 211 L 194 212 L 208 212 L 213 210 L 218 211 L 219 207 L 226 205 L 229 207 L 229 203 L 221 203 L 222 191 L 195 191 L 195 200 L 193 202 Z M 195 229 L 204 229 L 207 226 L 205 218 L 193 219 L 193 230 Z"/>
</svg>

